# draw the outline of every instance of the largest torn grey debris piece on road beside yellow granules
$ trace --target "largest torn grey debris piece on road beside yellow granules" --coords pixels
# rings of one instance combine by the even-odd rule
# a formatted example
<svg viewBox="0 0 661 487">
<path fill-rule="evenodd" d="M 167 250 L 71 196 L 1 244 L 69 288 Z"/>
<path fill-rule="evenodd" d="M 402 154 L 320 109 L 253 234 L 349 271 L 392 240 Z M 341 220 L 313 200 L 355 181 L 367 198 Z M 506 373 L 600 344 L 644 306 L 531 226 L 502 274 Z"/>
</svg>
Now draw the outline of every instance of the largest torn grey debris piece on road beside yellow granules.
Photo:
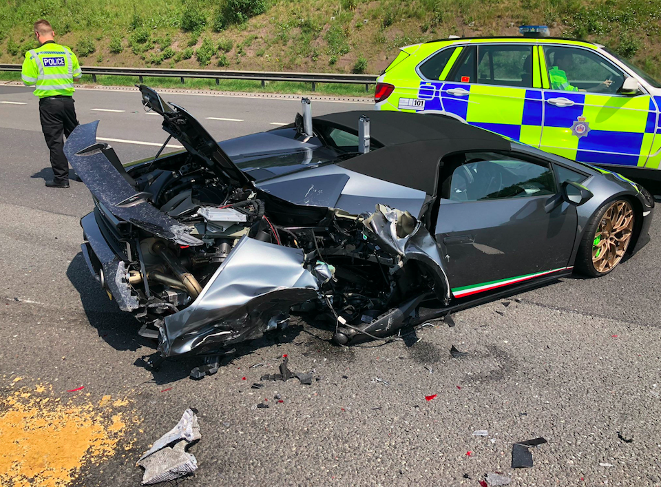
<svg viewBox="0 0 661 487">
<path fill-rule="evenodd" d="M 189 408 L 177 426 L 157 439 L 138 460 L 138 466 L 145 468 L 143 485 L 174 480 L 195 471 L 198 462 L 185 448 L 201 437 L 196 411 Z"/>
</svg>

